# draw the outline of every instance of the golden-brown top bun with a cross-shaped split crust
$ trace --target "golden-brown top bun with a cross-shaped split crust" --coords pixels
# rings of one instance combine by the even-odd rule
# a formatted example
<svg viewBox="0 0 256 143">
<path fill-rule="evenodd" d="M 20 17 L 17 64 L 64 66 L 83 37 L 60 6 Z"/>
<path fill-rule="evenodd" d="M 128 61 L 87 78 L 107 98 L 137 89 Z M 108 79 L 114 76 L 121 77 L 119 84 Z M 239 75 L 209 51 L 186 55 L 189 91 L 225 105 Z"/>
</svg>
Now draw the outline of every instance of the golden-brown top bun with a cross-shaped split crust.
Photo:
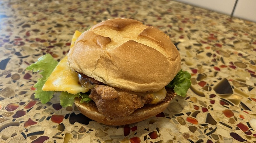
<svg viewBox="0 0 256 143">
<path fill-rule="evenodd" d="M 94 25 L 68 54 L 75 71 L 135 92 L 159 91 L 181 69 L 169 36 L 137 20 L 111 19 Z"/>
</svg>

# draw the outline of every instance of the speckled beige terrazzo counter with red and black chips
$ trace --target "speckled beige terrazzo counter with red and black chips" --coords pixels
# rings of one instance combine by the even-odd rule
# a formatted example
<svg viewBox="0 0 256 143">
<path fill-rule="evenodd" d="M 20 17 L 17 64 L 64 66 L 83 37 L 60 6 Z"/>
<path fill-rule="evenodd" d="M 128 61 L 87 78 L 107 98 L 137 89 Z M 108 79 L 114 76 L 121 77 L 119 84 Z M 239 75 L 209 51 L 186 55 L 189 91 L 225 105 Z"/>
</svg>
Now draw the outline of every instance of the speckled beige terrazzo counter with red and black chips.
<svg viewBox="0 0 256 143">
<path fill-rule="evenodd" d="M 156 117 L 106 126 L 63 108 L 58 96 L 34 98 L 38 73 L 26 67 L 68 52 L 75 30 L 123 17 L 170 35 L 185 98 Z M 256 142 L 256 24 L 174 1 L 3 0 L 0 2 L 0 142 Z"/>
</svg>

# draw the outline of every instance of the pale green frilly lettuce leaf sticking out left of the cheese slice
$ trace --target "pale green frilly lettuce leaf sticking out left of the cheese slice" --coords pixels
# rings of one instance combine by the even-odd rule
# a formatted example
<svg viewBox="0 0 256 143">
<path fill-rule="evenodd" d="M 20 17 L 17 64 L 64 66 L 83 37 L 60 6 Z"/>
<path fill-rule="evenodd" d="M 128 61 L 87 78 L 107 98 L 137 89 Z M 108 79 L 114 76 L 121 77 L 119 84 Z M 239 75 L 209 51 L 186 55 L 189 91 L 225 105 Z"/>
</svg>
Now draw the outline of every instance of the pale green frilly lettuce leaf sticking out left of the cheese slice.
<svg viewBox="0 0 256 143">
<path fill-rule="evenodd" d="M 58 61 L 54 60 L 51 54 L 46 54 L 40 57 L 37 62 L 26 68 L 26 70 L 31 70 L 33 72 L 41 71 L 39 74 L 42 75 L 42 78 L 38 79 L 38 82 L 34 85 L 34 87 L 36 88 L 35 98 L 39 98 L 43 104 L 49 102 L 50 99 L 53 98 L 54 91 L 43 91 L 42 88 L 57 64 Z"/>
</svg>

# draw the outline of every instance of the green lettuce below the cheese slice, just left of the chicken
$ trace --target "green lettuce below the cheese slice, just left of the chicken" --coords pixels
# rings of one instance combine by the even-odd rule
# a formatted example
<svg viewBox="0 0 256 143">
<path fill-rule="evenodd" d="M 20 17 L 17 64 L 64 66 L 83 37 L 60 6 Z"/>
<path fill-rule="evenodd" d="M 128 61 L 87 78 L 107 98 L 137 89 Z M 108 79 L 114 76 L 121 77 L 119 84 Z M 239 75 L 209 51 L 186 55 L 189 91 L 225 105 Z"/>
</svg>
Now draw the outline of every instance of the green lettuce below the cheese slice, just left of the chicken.
<svg viewBox="0 0 256 143">
<path fill-rule="evenodd" d="M 85 93 L 71 94 L 71 93 L 62 91 L 60 93 L 60 104 L 62 107 L 72 106 L 74 103 L 75 97 L 80 97 L 80 96 L 81 96 L 80 103 L 83 103 L 83 102 L 88 103 L 92 100 L 89 98 L 89 95 Z"/>
</svg>

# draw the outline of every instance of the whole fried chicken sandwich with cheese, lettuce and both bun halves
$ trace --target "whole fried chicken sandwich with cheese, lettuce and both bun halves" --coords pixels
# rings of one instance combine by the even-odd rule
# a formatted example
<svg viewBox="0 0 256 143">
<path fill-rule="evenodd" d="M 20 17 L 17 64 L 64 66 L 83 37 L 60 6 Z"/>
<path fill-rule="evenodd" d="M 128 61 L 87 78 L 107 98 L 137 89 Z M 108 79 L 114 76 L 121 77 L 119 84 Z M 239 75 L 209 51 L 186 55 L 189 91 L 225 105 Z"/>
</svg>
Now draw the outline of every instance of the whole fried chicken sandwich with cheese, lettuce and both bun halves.
<svg viewBox="0 0 256 143">
<path fill-rule="evenodd" d="M 63 107 L 75 103 L 82 114 L 106 125 L 155 116 L 191 85 L 169 36 L 132 19 L 110 19 L 76 31 L 59 63 L 46 54 L 27 70 L 43 75 L 34 86 L 42 103 L 60 91 Z"/>
</svg>

